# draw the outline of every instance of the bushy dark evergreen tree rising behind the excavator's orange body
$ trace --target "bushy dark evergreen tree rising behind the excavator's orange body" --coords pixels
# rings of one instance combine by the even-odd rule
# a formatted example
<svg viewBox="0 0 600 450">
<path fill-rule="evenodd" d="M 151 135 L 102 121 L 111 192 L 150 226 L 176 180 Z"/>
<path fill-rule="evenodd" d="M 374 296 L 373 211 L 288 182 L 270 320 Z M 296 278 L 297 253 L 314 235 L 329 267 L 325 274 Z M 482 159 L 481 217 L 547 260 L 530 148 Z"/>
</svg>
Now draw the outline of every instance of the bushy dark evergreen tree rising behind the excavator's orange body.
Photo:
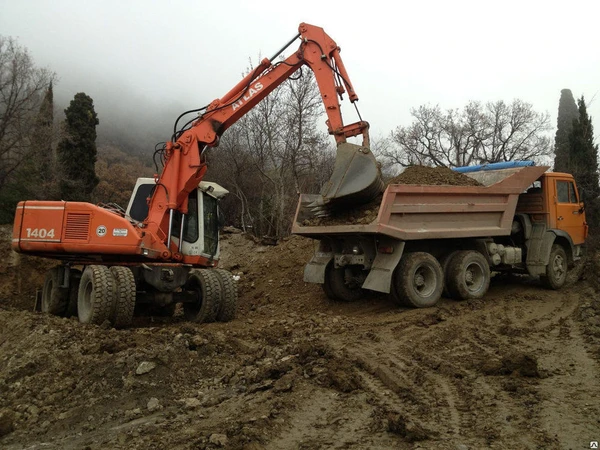
<svg viewBox="0 0 600 450">
<path fill-rule="evenodd" d="M 65 109 L 66 137 L 58 144 L 61 168 L 60 197 L 68 201 L 90 201 L 99 182 L 95 172 L 98 116 L 91 97 L 80 92 Z"/>
</svg>

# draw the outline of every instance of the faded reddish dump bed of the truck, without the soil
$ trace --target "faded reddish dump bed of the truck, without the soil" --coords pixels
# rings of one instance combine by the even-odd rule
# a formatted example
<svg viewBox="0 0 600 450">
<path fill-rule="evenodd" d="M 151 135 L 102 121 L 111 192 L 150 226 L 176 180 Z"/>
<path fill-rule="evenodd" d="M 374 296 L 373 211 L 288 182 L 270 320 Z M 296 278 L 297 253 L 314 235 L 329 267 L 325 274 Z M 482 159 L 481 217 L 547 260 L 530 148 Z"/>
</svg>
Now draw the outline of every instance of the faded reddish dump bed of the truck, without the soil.
<svg viewBox="0 0 600 450">
<path fill-rule="evenodd" d="M 377 219 L 369 224 L 328 225 L 328 219 L 315 220 L 308 205 L 318 196 L 302 194 L 292 233 L 315 239 L 380 233 L 406 241 L 509 235 L 519 194 L 547 170 L 530 166 L 465 173 L 482 186 L 391 184 Z"/>
</svg>

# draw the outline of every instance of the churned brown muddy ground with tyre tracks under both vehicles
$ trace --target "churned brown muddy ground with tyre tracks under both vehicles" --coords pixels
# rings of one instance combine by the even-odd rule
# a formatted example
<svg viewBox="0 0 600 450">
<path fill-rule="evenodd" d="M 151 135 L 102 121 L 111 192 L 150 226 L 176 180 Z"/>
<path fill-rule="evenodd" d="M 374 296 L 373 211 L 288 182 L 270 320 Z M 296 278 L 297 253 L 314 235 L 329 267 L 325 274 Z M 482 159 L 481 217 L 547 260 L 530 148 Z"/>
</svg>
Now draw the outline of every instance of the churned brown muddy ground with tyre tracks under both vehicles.
<svg viewBox="0 0 600 450">
<path fill-rule="evenodd" d="M 327 300 L 311 241 L 223 241 L 238 318 L 127 330 L 31 312 L 39 270 L 2 229 L 0 448 L 583 449 L 600 440 L 595 261 L 561 291 L 494 278 L 414 310 Z M 572 277 L 576 279 L 577 277 Z"/>
</svg>

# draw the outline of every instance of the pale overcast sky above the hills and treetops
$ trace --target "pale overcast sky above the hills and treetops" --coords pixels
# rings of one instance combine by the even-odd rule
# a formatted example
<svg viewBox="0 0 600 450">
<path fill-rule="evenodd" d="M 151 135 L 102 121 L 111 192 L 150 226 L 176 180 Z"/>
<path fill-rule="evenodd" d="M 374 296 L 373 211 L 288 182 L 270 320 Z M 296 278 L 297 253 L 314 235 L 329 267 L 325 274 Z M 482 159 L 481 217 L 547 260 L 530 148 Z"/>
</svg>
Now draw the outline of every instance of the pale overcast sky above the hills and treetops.
<svg viewBox="0 0 600 450">
<path fill-rule="evenodd" d="M 0 11 L 0 34 L 57 73 L 56 95 L 86 92 L 101 120 L 121 102 L 203 106 L 307 22 L 341 47 L 374 135 L 408 125 L 419 105 L 469 100 L 519 98 L 555 126 L 569 88 L 585 95 L 600 141 L 598 1 L 0 0 Z"/>
</svg>

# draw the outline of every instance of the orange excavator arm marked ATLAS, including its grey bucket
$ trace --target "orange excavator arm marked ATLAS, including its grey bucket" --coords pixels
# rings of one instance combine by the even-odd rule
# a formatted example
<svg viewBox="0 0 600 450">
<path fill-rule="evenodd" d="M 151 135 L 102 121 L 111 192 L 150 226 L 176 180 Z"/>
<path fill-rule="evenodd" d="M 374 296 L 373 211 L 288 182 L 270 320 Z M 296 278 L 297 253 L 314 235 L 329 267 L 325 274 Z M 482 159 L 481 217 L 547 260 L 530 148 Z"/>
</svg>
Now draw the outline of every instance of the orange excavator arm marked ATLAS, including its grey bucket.
<svg viewBox="0 0 600 450">
<path fill-rule="evenodd" d="M 328 117 L 328 131 L 338 144 L 336 167 L 331 178 L 335 181 L 333 186 L 330 181 L 330 186 L 324 189 L 329 192 L 329 198 L 326 198 L 325 192 L 322 205 L 335 204 L 337 200 L 342 205 L 364 202 L 381 191 L 379 171 L 368 150 L 369 124 L 359 121 L 344 125 L 342 120 L 340 99 L 343 94 L 347 93 L 352 103 L 358 100 L 358 96 L 340 57 L 339 47 L 320 27 L 302 23 L 298 31 L 294 40 L 299 37 L 301 42 L 294 54 L 274 63 L 273 60 L 284 47 L 270 60 L 263 59 L 233 89 L 214 100 L 189 129 L 176 136 L 175 142 L 167 143 L 165 166 L 157 179 L 157 188 L 150 200 L 145 221 L 148 230 L 163 242 L 170 235 L 173 211 L 187 212 L 188 194 L 198 186 L 206 173 L 202 158 L 204 149 L 216 146 L 225 130 L 303 66 L 308 66 L 315 75 Z M 348 137 L 358 135 L 363 136 L 363 146 L 346 143 Z M 361 178 L 365 172 L 368 172 L 366 181 Z M 352 193 L 358 191 L 358 195 L 348 196 L 345 193 L 348 190 Z M 319 207 L 318 210 L 325 209 Z"/>
</svg>

